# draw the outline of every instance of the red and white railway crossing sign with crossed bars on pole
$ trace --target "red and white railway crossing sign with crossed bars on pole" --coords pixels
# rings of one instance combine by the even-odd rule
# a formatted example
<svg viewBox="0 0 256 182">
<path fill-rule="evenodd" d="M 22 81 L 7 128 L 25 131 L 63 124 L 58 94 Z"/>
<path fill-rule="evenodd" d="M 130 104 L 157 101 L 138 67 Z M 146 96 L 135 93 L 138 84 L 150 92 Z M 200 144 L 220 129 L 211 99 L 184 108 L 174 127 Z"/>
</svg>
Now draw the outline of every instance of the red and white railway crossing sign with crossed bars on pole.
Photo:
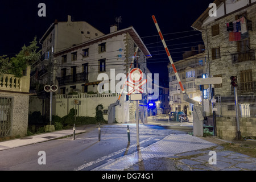
<svg viewBox="0 0 256 182">
<path fill-rule="evenodd" d="M 130 94 L 139 92 L 143 93 L 142 85 L 146 84 L 147 79 L 143 79 L 143 72 L 139 68 L 134 68 L 129 73 L 129 80 L 125 82 L 127 86 L 129 86 L 128 96 Z"/>
</svg>

